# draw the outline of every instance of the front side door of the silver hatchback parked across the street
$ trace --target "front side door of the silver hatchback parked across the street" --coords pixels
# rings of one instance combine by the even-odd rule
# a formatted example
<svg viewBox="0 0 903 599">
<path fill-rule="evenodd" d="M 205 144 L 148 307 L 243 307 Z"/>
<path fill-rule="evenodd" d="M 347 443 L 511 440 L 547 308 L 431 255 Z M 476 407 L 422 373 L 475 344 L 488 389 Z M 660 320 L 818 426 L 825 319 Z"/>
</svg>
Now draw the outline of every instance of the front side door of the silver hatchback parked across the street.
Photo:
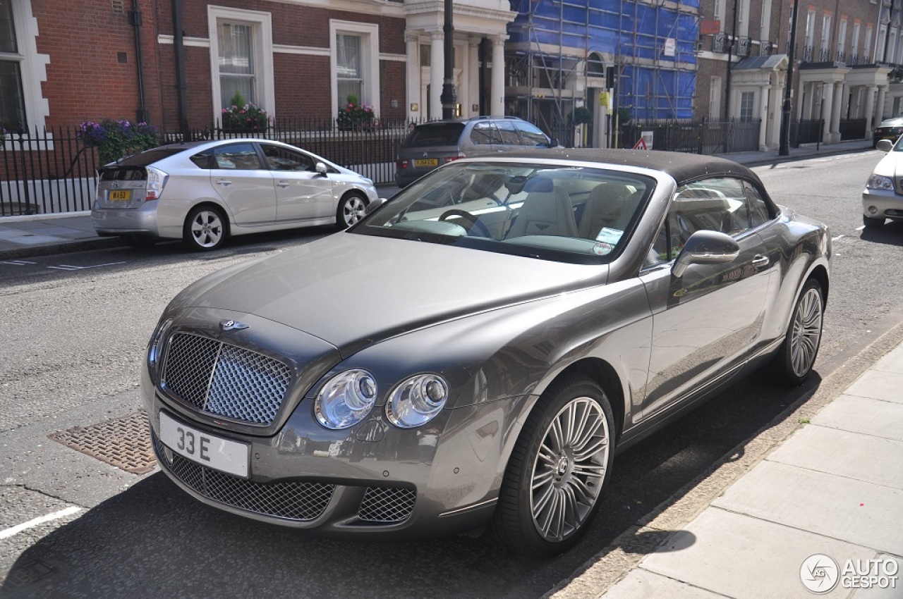
<svg viewBox="0 0 903 599">
<path fill-rule="evenodd" d="M 276 222 L 333 217 L 336 200 L 329 174 L 316 171 L 312 156 L 275 143 L 261 143 L 276 195 Z"/>
</svg>

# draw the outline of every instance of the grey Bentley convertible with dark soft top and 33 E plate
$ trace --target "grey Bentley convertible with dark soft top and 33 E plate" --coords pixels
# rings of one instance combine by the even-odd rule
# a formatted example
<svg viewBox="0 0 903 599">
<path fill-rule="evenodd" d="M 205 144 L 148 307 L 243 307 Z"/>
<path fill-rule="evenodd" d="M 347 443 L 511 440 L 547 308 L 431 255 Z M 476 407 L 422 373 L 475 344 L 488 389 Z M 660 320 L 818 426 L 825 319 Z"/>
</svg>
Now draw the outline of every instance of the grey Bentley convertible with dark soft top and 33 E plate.
<svg viewBox="0 0 903 599">
<path fill-rule="evenodd" d="M 732 161 L 454 161 L 172 299 L 143 376 L 154 448 L 186 493 L 259 521 L 554 555 L 619 451 L 753 369 L 804 381 L 830 255 Z"/>
</svg>

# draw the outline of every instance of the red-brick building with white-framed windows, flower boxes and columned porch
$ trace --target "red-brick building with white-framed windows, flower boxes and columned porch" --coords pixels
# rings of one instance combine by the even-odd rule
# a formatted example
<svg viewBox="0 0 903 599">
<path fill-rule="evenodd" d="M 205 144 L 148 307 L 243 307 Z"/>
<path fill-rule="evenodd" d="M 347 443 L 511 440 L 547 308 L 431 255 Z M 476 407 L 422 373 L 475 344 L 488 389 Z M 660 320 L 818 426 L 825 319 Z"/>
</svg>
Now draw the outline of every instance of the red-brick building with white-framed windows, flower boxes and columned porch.
<svg viewBox="0 0 903 599">
<path fill-rule="evenodd" d="M 236 91 L 275 117 L 328 120 L 349 94 L 384 119 L 436 117 L 442 10 L 442 0 L 0 0 L 0 124 L 202 128 Z M 454 10 L 461 115 L 500 112 L 491 63 L 503 62 L 514 14 L 507 0 Z"/>
</svg>

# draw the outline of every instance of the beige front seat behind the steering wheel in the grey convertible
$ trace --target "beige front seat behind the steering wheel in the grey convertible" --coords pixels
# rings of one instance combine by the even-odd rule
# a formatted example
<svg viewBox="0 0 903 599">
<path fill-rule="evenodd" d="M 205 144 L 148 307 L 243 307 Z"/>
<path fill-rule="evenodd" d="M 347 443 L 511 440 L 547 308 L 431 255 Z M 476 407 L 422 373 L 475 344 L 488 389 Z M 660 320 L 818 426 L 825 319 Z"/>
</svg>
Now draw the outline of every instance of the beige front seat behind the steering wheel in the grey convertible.
<svg viewBox="0 0 903 599">
<path fill-rule="evenodd" d="M 563 189 L 555 189 L 551 179 L 531 179 L 524 186 L 526 198 L 506 237 L 559 235 L 577 237 L 571 198 Z"/>
</svg>

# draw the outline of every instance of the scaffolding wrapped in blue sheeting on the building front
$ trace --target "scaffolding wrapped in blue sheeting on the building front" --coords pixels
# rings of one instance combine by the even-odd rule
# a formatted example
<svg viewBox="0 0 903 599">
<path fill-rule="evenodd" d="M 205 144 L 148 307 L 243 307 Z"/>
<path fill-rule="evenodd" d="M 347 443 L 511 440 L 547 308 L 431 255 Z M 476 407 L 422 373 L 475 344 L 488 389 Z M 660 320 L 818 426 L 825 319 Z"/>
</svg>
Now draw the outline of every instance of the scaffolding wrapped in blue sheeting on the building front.
<svg viewBox="0 0 903 599">
<path fill-rule="evenodd" d="M 512 0 L 511 7 L 518 16 L 508 27 L 509 114 L 560 130 L 604 79 L 631 117 L 693 117 L 699 0 Z"/>
</svg>

